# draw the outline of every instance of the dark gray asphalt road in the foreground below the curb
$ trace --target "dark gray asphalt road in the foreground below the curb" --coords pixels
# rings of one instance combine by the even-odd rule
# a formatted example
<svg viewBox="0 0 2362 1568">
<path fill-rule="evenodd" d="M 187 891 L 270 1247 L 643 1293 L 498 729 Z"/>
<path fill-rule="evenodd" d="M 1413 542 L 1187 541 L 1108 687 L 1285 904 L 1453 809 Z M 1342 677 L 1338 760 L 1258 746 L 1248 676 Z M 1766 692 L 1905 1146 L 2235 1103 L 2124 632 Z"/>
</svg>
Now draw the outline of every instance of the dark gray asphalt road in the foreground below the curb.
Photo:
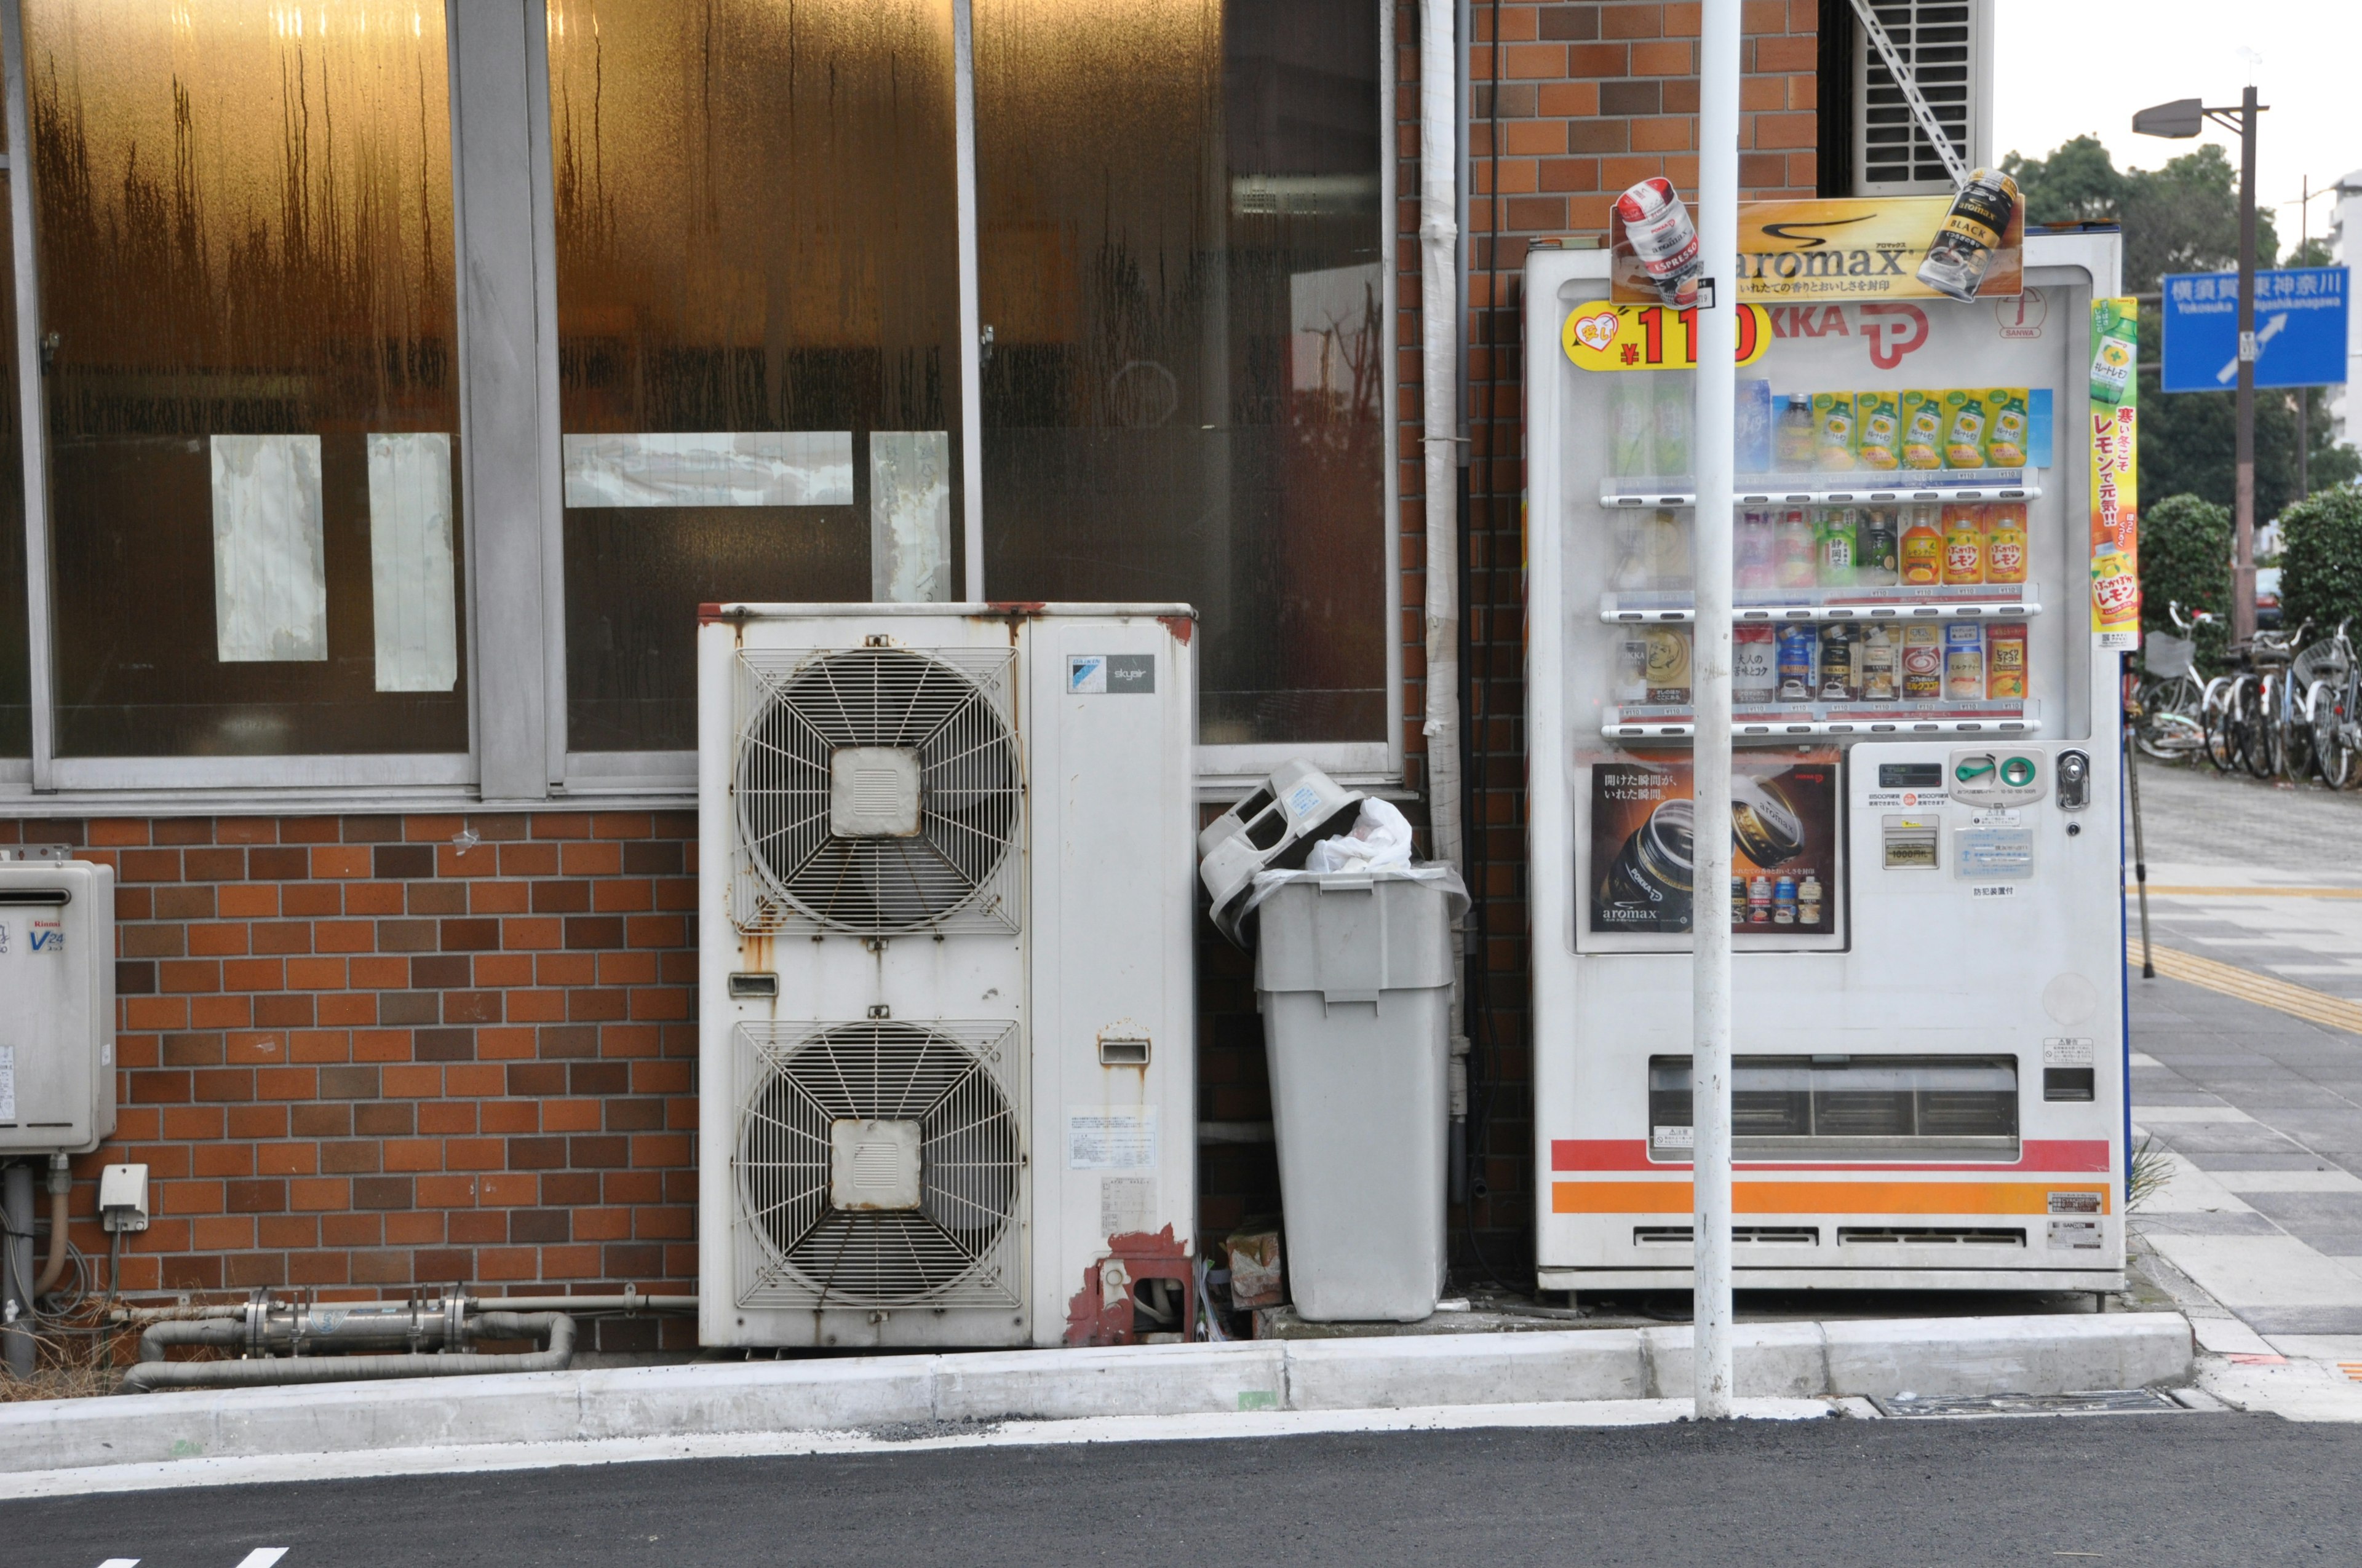
<svg viewBox="0 0 2362 1568">
<path fill-rule="evenodd" d="M 2357 1481 L 2362 1426 L 2197 1412 L 1306 1436 L 14 1502 L 0 1561 L 2268 1568 L 2353 1563 Z"/>
</svg>

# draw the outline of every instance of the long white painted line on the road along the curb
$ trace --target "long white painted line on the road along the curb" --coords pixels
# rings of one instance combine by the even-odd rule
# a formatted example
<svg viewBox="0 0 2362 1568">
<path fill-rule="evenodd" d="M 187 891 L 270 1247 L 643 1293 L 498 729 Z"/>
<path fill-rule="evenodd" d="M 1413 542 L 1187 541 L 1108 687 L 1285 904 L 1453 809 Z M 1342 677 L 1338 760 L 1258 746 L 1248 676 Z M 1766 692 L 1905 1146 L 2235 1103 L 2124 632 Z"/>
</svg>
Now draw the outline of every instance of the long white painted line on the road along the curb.
<svg viewBox="0 0 2362 1568">
<path fill-rule="evenodd" d="M 1741 1398 L 1750 1422 L 1816 1422 L 1859 1415 L 1861 1400 Z M 158 1492 L 189 1485 L 267 1485 L 276 1481 L 352 1481 L 364 1476 L 446 1476 L 557 1469 L 569 1464 L 645 1464 L 657 1459 L 763 1459 L 798 1455 L 900 1455 L 942 1448 L 1039 1448 L 1075 1443 L 1172 1443 L 1212 1438 L 1294 1438 L 1313 1433 L 1472 1431 L 1505 1426 L 1663 1426 L 1686 1422 L 1691 1400 L 1566 1400 L 1547 1405 L 1412 1405 L 1401 1410 L 1242 1410 L 1214 1415 L 1089 1417 L 1075 1422 L 1001 1422 L 976 1431 L 907 1443 L 864 1431 L 723 1431 L 687 1438 L 605 1438 L 593 1443 L 482 1443 L 461 1448 L 380 1448 L 324 1455 L 236 1459 L 165 1459 L 61 1471 L 0 1474 L 0 1500 L 76 1497 L 87 1492 Z M 279 1561 L 274 1549 L 269 1563 Z M 260 1554 L 255 1554 L 260 1556 Z M 255 1559 L 239 1563 L 248 1568 Z"/>
</svg>

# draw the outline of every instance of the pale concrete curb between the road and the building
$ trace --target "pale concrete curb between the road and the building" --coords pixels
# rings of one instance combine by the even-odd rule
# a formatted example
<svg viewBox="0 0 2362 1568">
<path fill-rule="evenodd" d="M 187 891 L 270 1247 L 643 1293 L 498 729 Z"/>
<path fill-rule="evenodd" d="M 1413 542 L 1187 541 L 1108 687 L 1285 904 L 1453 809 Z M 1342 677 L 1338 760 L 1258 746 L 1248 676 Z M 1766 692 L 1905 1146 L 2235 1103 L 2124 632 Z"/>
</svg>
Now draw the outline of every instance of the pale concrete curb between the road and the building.
<svg viewBox="0 0 2362 1568">
<path fill-rule="evenodd" d="M 2180 1384 L 2178 1313 L 1738 1325 L 1738 1391 L 1769 1400 L 2069 1393 Z M 397 1384 L 317 1384 L 0 1405 L 0 1497 L 106 1490 L 184 1459 L 444 1452 L 702 1438 L 912 1433 L 999 1422 L 1535 1407 L 1686 1398 L 1691 1329 L 1566 1329 L 697 1363 Z M 1509 1417 L 1505 1417 L 1509 1419 Z M 1514 1419 L 1509 1419 L 1514 1424 Z M 654 1455 L 650 1455 L 654 1457 Z M 38 1471 L 35 1471 L 38 1466 Z M 76 1478 L 76 1474 L 80 1478 Z M 239 1478 L 205 1466 L 205 1481 Z M 154 1483 L 154 1481 L 144 1481 Z"/>
</svg>

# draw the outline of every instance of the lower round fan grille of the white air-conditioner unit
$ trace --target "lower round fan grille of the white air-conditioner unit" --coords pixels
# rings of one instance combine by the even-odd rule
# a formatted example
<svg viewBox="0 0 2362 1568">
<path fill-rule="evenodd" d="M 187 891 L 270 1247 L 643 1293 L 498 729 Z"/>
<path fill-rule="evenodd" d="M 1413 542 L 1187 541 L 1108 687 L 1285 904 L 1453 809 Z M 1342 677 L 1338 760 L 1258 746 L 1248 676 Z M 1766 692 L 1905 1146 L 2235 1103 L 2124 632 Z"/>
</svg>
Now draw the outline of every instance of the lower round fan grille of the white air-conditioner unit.
<svg viewBox="0 0 2362 1568">
<path fill-rule="evenodd" d="M 739 1025 L 739 1306 L 1020 1301 L 1016 1027 Z M 919 1124 L 919 1207 L 829 1207 L 829 1124 Z"/>
</svg>

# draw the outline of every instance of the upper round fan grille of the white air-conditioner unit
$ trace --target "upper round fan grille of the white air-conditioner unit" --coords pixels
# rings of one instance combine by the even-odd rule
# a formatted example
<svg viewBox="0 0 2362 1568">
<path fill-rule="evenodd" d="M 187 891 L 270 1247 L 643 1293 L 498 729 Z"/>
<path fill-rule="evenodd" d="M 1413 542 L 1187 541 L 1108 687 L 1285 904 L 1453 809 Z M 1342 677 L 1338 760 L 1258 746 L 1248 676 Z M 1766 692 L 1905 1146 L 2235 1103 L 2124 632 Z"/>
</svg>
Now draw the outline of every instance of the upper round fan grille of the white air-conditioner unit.
<svg viewBox="0 0 2362 1568">
<path fill-rule="evenodd" d="M 1016 930 L 1016 652 L 860 647 L 739 656 L 739 930 Z M 919 834 L 829 831 L 829 756 L 919 758 Z"/>
</svg>

